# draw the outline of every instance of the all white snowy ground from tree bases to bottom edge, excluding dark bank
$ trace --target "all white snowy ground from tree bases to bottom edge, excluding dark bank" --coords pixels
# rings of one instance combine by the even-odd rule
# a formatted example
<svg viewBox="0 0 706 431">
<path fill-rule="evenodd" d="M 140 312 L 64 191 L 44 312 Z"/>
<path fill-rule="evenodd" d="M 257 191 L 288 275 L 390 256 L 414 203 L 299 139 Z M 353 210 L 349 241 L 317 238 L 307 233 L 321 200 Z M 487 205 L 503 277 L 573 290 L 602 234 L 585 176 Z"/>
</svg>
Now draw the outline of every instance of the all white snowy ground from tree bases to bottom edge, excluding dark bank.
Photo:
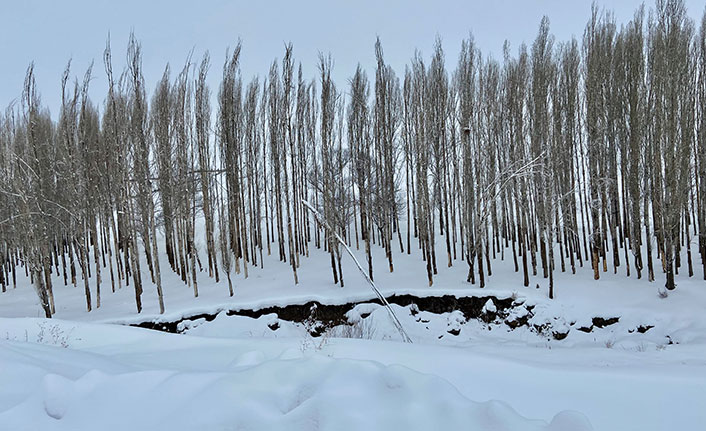
<svg viewBox="0 0 706 431">
<path fill-rule="evenodd" d="M 57 277 L 56 318 L 40 319 L 21 276 L 17 288 L 0 293 L 0 430 L 703 429 L 706 282 L 699 268 L 692 278 L 680 274 L 667 298 L 657 294 L 659 274 L 650 283 L 627 278 L 624 268 L 600 281 L 590 267 L 557 271 L 557 298 L 549 300 L 541 277 L 522 287 L 511 255 L 494 262 L 480 289 L 465 282 L 463 262 L 440 265 L 429 288 L 418 255 L 395 254 L 390 274 L 383 252 L 375 253 L 385 295 L 514 298 L 514 317 L 532 310 L 529 326 L 511 330 L 501 319 L 393 304 L 414 341 L 403 343 L 352 262 L 344 257 L 346 285 L 334 286 L 327 255 L 315 249 L 302 257 L 298 285 L 286 263 L 265 256 L 264 269 L 234 275 L 233 298 L 205 272 L 193 298 L 192 288 L 163 271 L 162 316 L 149 283 L 140 315 L 132 286 L 112 293 L 105 281 L 101 307 L 87 313 L 80 280 L 64 286 Z M 362 261 L 362 251 L 356 255 Z M 312 300 L 371 304 L 348 313 L 353 326 L 321 337 L 274 314 L 221 312 L 211 321 L 185 320 L 183 334 L 125 326 Z M 494 307 L 485 304 L 486 312 Z M 619 321 L 578 330 L 594 317 Z M 568 335 L 557 340 L 551 331 Z"/>
</svg>

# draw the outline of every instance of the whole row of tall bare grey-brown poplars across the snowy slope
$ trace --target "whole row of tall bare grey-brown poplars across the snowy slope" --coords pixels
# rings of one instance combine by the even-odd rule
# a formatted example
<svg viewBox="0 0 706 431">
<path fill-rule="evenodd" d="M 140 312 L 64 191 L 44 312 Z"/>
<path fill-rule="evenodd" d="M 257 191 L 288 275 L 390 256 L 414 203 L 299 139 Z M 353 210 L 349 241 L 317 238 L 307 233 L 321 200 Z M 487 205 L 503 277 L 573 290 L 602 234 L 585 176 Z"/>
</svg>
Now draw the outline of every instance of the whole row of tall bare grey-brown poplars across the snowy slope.
<svg viewBox="0 0 706 431">
<path fill-rule="evenodd" d="M 56 279 L 82 283 L 89 311 L 132 284 L 139 312 L 148 278 L 164 311 L 160 253 L 194 296 L 200 271 L 233 295 L 232 274 L 264 253 L 297 283 L 310 247 L 343 286 L 333 231 L 365 250 L 371 278 L 373 247 L 390 271 L 420 250 L 430 286 L 439 265 L 462 264 L 483 287 L 500 258 L 525 286 L 548 278 L 550 297 L 555 271 L 584 265 L 595 279 L 664 271 L 671 290 L 696 272 L 696 237 L 706 279 L 706 15 L 697 30 L 681 0 L 620 27 L 594 7 L 582 41 L 556 42 L 545 18 L 501 60 L 469 37 L 453 71 L 437 41 L 398 76 L 377 40 L 371 76 L 358 67 L 344 86 L 325 55 L 305 79 L 291 45 L 244 82 L 240 49 L 212 107 L 208 54 L 175 77 L 167 67 L 150 98 L 139 42 L 119 75 L 108 42 L 102 109 L 93 68 L 71 83 L 69 64 L 57 121 L 30 65 L 21 103 L 0 116 L 3 291 L 23 271 L 50 317 Z"/>
</svg>

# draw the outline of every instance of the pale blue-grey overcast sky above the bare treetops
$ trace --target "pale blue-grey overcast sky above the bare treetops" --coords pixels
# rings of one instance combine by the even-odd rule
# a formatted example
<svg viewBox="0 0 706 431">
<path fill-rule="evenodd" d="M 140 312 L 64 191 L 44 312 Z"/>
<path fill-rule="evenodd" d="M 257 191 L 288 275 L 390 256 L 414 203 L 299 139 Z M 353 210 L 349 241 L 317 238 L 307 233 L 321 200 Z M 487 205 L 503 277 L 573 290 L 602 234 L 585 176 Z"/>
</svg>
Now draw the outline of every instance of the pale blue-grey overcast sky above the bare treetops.
<svg viewBox="0 0 706 431">
<path fill-rule="evenodd" d="M 626 23 L 640 1 L 598 1 Z M 646 3 L 651 8 L 653 3 Z M 689 15 L 700 22 L 703 0 L 686 0 Z M 461 40 L 472 32 L 484 55 L 500 58 L 504 40 L 513 52 L 534 39 L 547 15 L 557 41 L 581 38 L 590 15 L 584 0 L 0 0 L 0 107 L 21 94 L 28 64 L 35 62 L 42 102 L 56 117 L 59 82 L 69 59 L 73 76 L 83 76 L 95 60 L 91 98 L 103 104 L 106 79 L 102 53 L 111 35 L 114 71 L 122 70 L 128 36 L 134 30 L 142 42 L 144 75 L 151 93 L 167 63 L 180 70 L 188 52 L 199 60 L 211 53 L 209 83 L 215 94 L 227 47 L 243 42 L 241 70 L 247 81 L 264 75 L 284 44 L 294 44 L 307 78 L 316 74 L 318 53 L 334 58 L 334 79 L 347 84 L 357 63 L 372 74 L 374 42 L 379 35 L 386 60 L 398 75 L 419 49 L 431 54 L 434 39 L 442 38 L 447 63 L 454 67 Z M 174 73 L 172 74 L 174 77 Z"/>
</svg>

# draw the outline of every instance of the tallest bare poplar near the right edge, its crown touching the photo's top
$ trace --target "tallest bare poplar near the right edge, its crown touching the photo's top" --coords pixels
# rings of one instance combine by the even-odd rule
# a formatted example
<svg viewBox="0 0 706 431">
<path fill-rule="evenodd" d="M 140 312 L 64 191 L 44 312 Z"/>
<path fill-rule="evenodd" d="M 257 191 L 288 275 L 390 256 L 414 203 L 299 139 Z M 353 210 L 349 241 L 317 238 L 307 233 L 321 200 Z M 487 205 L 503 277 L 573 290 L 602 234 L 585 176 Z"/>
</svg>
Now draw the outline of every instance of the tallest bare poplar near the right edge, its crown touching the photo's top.
<svg viewBox="0 0 706 431">
<path fill-rule="evenodd" d="M 672 290 L 682 211 L 689 196 L 694 141 L 694 28 L 683 1 L 658 0 L 649 24 L 648 98 L 650 135 L 658 197 L 656 233 L 661 244 L 665 287 Z M 654 205 L 654 204 L 653 204 Z"/>
</svg>

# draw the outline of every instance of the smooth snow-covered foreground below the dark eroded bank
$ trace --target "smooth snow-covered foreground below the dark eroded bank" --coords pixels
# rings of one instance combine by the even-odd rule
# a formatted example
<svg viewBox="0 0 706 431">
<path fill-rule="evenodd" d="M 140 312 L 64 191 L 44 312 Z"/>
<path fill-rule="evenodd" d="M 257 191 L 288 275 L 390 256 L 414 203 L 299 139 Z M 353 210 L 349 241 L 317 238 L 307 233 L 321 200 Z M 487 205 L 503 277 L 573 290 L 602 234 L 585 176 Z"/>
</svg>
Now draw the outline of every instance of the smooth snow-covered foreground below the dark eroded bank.
<svg viewBox="0 0 706 431">
<path fill-rule="evenodd" d="M 490 335 L 465 347 L 410 345 L 295 330 L 264 338 L 254 331 L 285 326 L 238 319 L 194 335 L 0 319 L 0 430 L 667 430 L 706 421 L 700 346 L 569 348 Z"/>
</svg>

